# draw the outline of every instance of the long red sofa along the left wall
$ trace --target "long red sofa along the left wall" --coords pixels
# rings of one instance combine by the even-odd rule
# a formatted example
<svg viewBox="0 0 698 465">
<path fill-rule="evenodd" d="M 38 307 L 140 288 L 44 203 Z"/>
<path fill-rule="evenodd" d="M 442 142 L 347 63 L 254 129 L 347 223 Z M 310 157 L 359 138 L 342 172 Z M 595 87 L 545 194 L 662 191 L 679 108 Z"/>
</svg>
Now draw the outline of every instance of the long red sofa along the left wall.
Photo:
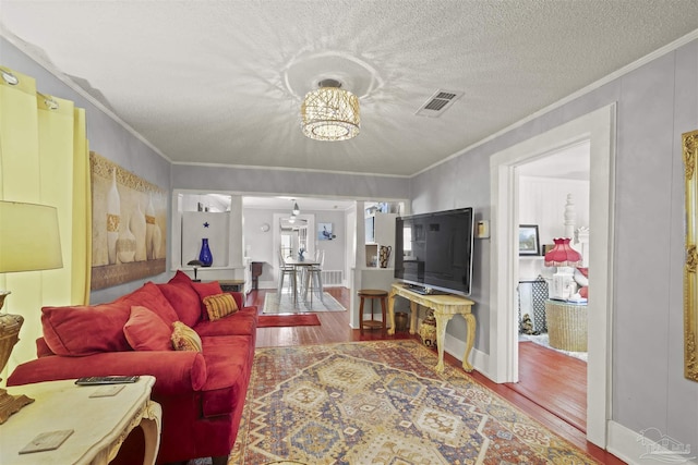
<svg viewBox="0 0 698 465">
<path fill-rule="evenodd" d="M 8 386 L 155 376 L 152 397 L 163 406 L 157 463 L 206 456 L 226 463 L 242 416 L 257 326 L 256 307 L 244 307 L 240 293 L 229 294 L 238 310 L 213 321 L 203 299 L 224 295 L 220 285 L 192 282 L 183 272 L 109 304 L 45 307 L 38 358 L 20 365 Z M 201 352 L 172 348 L 174 321 L 196 332 Z"/>
</svg>

